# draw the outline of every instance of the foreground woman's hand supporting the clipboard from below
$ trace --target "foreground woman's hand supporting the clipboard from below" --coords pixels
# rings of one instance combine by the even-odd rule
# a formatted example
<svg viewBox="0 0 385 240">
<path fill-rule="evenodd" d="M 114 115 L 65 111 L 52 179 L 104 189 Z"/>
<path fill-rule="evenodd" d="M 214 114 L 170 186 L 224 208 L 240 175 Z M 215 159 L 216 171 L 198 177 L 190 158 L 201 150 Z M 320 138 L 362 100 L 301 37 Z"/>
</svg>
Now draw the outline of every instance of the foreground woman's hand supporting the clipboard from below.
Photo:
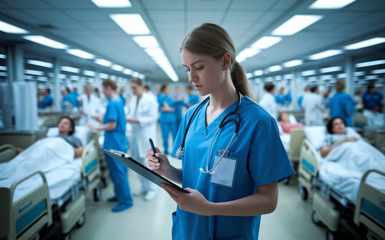
<svg viewBox="0 0 385 240">
<path fill-rule="evenodd" d="M 198 190 L 185 188 L 189 193 L 181 192 L 175 187 L 168 184 L 162 183 L 162 188 L 171 196 L 172 199 L 178 204 L 179 209 L 192 212 L 194 214 L 210 216 L 209 213 L 210 205 L 209 202 Z"/>
</svg>

